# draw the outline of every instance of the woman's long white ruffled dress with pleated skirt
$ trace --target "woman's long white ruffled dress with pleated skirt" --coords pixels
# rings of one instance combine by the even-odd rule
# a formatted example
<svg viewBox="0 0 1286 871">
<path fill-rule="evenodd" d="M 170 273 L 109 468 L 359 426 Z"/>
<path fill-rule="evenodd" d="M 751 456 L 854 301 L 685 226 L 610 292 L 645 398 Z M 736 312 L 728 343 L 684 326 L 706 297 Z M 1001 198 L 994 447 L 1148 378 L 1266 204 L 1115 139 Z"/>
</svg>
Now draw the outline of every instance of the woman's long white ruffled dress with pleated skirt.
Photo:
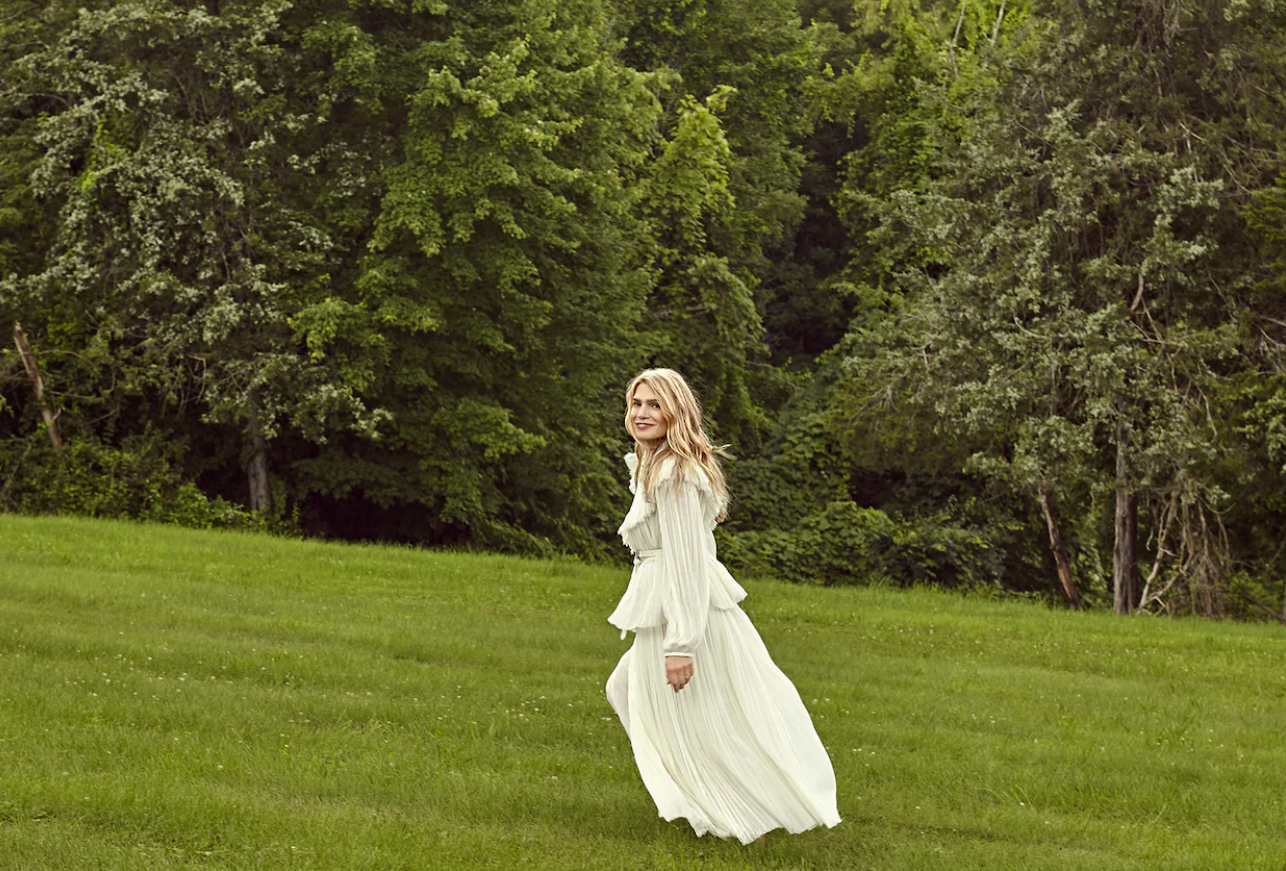
<svg viewBox="0 0 1286 871">
<path fill-rule="evenodd" d="M 715 553 L 719 504 L 700 472 L 666 461 L 655 499 L 633 482 L 620 535 L 634 571 L 608 620 L 634 645 L 607 682 L 643 784 L 665 820 L 748 844 L 766 831 L 835 826 L 835 771 L 799 692 L 737 606 L 746 591 Z M 674 692 L 666 656 L 691 656 Z"/>
</svg>

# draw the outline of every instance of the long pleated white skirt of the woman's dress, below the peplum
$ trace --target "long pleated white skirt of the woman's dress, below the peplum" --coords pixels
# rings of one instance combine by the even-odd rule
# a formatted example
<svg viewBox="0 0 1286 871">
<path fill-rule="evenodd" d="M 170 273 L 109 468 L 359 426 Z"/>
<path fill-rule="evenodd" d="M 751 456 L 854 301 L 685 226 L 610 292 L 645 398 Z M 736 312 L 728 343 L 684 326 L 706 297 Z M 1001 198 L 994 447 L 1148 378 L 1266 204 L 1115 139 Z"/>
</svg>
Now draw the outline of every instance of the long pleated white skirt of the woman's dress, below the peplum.
<svg viewBox="0 0 1286 871">
<path fill-rule="evenodd" d="M 835 771 L 804 702 L 737 606 L 711 609 L 680 692 L 662 628 L 643 628 L 607 682 L 643 784 L 665 820 L 748 844 L 840 822 Z"/>
</svg>

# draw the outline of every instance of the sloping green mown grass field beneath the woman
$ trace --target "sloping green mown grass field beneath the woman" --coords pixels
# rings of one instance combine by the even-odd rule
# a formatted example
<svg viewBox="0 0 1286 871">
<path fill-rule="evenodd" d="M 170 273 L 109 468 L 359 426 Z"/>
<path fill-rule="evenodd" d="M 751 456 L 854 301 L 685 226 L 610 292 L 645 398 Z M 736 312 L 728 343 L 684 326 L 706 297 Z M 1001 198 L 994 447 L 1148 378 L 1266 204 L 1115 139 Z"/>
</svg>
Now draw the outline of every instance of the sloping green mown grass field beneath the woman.
<svg viewBox="0 0 1286 871">
<path fill-rule="evenodd" d="M 1286 868 L 1280 627 L 754 583 L 833 830 L 656 818 L 624 571 L 0 516 L 0 870 Z"/>
</svg>

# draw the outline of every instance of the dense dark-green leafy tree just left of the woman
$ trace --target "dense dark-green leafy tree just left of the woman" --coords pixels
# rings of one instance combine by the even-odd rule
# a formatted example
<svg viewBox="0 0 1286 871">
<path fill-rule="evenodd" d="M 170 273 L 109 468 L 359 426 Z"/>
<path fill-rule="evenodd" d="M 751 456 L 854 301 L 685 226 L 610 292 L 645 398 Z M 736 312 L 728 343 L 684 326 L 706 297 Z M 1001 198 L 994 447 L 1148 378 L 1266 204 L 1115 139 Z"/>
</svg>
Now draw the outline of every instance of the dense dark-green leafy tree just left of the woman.
<svg viewBox="0 0 1286 871">
<path fill-rule="evenodd" d="M 373 359 L 394 419 L 381 445 L 303 452 L 301 486 L 349 531 L 597 549 L 656 100 L 597 0 L 334 6 L 303 45 L 351 255 L 296 323 L 320 358 Z"/>
</svg>

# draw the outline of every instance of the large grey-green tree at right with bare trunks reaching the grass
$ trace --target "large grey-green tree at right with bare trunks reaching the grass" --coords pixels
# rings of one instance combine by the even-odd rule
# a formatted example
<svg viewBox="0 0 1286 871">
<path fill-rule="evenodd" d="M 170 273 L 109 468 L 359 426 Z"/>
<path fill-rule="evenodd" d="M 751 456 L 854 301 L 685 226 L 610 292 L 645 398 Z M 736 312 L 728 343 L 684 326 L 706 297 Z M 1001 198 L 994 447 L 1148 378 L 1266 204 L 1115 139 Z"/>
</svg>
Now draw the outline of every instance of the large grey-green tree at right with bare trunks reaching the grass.
<svg viewBox="0 0 1286 871">
<path fill-rule="evenodd" d="M 1276 135 L 1246 120 L 1244 67 L 1215 59 L 1277 75 L 1258 33 L 1281 14 L 1254 14 L 1253 31 L 1219 3 L 1051 9 L 961 144 L 941 136 L 946 171 L 887 197 L 876 235 L 927 256 L 901 273 L 904 313 L 863 371 L 904 385 L 992 480 L 1078 511 L 1110 497 L 1118 612 L 1143 596 L 1141 504 L 1150 580 L 1179 573 L 1211 612 L 1228 576 L 1210 399 L 1256 269 L 1242 192 L 1271 179 Z"/>
</svg>

